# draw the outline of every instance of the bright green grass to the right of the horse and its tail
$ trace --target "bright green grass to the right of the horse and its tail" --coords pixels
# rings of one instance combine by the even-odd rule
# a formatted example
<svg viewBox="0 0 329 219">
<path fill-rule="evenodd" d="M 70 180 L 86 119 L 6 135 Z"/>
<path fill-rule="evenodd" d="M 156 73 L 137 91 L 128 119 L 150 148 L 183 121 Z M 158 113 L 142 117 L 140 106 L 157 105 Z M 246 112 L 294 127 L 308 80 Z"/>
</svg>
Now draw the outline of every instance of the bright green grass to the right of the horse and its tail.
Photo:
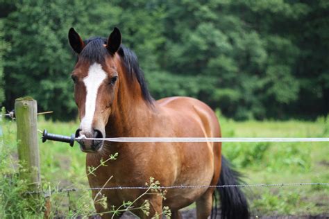
<svg viewBox="0 0 329 219">
<path fill-rule="evenodd" d="M 324 119 L 220 121 L 223 137 L 329 137 L 329 122 Z M 328 142 L 223 143 L 223 155 L 248 184 L 329 182 Z M 255 216 L 329 213 L 329 186 L 255 187 L 246 193 Z"/>
</svg>

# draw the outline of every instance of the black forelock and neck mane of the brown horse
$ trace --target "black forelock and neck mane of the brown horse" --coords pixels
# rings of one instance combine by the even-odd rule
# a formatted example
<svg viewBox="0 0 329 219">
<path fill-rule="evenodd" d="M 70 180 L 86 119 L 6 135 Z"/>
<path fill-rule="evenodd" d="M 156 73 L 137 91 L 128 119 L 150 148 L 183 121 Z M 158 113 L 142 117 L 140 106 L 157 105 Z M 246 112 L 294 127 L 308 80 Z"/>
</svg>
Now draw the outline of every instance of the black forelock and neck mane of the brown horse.
<svg viewBox="0 0 329 219">
<path fill-rule="evenodd" d="M 102 64 L 105 62 L 106 56 L 110 55 L 108 50 L 103 46 L 104 44 L 107 44 L 106 38 L 92 37 L 84 42 L 86 46 L 80 53 L 81 58 L 89 60 L 90 62 L 98 62 Z M 140 89 L 142 90 L 144 100 L 148 103 L 153 103 L 153 98 L 147 88 L 144 73 L 142 69 L 140 69 L 140 64 L 138 64 L 136 54 L 123 44 L 121 44 L 117 53 L 124 61 L 124 67 L 128 73 L 128 78 L 130 80 L 136 79 L 140 83 Z"/>
</svg>

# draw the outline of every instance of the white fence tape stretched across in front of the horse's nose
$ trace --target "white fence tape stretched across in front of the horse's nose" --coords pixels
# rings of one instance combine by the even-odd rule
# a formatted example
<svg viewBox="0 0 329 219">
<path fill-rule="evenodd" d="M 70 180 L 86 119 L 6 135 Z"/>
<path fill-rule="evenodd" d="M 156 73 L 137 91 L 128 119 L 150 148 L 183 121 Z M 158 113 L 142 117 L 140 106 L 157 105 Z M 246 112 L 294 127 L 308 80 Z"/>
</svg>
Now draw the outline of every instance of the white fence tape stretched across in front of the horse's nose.
<svg viewBox="0 0 329 219">
<path fill-rule="evenodd" d="M 87 138 L 84 135 L 76 141 L 96 140 L 113 142 L 329 142 L 329 138 L 207 138 L 207 137 L 115 137 L 115 138 Z"/>
</svg>

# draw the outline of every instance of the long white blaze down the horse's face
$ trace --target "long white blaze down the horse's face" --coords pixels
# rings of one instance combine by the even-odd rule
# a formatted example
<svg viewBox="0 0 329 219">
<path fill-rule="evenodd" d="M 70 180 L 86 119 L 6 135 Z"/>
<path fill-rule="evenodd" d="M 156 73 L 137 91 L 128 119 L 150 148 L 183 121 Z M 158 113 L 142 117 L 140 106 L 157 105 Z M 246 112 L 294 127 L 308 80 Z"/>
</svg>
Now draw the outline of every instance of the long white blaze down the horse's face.
<svg viewBox="0 0 329 219">
<path fill-rule="evenodd" d="M 81 121 L 83 131 L 92 130 L 92 119 L 96 109 L 96 98 L 99 86 L 106 78 L 106 72 L 101 68 L 101 64 L 94 63 L 89 67 L 88 76 L 83 78 L 87 96 L 85 98 L 85 116 Z"/>
</svg>

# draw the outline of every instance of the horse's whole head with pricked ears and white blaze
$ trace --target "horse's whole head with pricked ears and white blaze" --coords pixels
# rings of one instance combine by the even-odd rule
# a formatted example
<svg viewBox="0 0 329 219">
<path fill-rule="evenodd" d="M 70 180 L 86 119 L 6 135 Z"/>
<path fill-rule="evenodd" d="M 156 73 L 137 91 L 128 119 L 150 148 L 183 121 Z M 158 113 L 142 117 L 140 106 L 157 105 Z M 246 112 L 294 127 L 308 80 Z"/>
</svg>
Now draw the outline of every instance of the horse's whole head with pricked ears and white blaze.
<svg viewBox="0 0 329 219">
<path fill-rule="evenodd" d="M 108 40 L 94 37 L 83 41 L 74 28 L 69 30 L 69 43 L 78 53 L 78 61 L 71 74 L 74 98 L 81 125 L 76 137 L 103 138 L 119 87 L 119 58 L 121 33 L 115 28 Z M 97 152 L 103 141 L 80 140 L 83 152 Z"/>
</svg>

